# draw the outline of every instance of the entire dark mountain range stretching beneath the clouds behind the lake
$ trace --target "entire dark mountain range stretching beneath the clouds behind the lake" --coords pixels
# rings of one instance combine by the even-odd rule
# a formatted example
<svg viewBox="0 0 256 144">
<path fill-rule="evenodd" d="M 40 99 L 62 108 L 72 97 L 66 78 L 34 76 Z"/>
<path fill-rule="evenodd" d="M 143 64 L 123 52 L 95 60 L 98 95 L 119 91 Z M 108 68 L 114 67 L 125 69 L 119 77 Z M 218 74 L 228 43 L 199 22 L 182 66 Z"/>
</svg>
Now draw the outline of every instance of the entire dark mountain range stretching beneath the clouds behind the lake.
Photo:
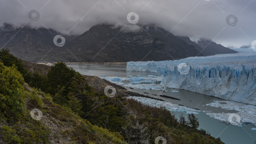
<svg viewBox="0 0 256 144">
<path fill-rule="evenodd" d="M 68 36 L 52 29 L 34 29 L 29 26 L 21 29 L 5 24 L 0 28 L 0 45 L 9 48 L 12 54 L 23 60 L 36 63 L 162 61 L 213 55 L 219 49 L 225 49 L 221 52 L 230 50 L 211 42 L 202 51 L 202 46 L 209 41 L 202 39 L 200 44 L 196 44 L 188 37 L 176 37 L 155 25 L 137 26 L 136 31 L 129 30 L 129 27 L 131 25 L 125 28 L 95 25 L 80 36 Z M 63 47 L 54 45 L 53 38 L 56 35 L 66 39 Z"/>
</svg>

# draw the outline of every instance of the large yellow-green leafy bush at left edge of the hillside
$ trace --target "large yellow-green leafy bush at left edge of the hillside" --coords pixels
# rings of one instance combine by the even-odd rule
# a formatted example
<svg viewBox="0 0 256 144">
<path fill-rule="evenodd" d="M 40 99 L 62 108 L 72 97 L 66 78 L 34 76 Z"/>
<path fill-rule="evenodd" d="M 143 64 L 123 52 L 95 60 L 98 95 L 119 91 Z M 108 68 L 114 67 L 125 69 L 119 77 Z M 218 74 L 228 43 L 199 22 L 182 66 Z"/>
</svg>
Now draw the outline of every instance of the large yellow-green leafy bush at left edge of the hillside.
<svg viewBox="0 0 256 144">
<path fill-rule="evenodd" d="M 7 117 L 23 113 L 24 79 L 15 66 L 6 67 L 0 63 L 0 111 Z"/>
</svg>

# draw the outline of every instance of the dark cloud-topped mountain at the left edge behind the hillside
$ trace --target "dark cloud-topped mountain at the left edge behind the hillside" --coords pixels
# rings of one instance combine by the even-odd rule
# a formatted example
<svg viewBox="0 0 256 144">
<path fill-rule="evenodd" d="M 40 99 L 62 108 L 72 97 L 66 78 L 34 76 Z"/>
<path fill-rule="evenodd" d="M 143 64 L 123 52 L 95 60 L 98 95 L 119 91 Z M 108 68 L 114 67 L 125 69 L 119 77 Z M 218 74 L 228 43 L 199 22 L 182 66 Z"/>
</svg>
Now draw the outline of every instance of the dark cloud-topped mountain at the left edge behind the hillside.
<svg viewBox="0 0 256 144">
<path fill-rule="evenodd" d="M 10 52 L 29 62 L 39 61 L 52 47 L 56 47 L 53 38 L 62 35 L 53 29 L 31 28 L 26 25 L 23 28 L 4 24 L 0 27 L 0 48 L 8 48 Z M 67 41 L 75 36 L 63 35 Z"/>
</svg>

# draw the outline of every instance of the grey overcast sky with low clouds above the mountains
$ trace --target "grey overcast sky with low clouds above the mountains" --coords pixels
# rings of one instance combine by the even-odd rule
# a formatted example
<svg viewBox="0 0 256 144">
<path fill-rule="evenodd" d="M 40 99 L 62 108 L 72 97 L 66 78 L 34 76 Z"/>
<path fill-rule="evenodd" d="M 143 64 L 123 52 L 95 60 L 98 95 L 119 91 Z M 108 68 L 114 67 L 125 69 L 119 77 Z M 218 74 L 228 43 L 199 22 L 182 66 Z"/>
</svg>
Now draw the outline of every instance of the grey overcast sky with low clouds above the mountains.
<svg viewBox="0 0 256 144">
<path fill-rule="evenodd" d="M 127 14 L 135 12 L 137 25 L 156 24 L 174 35 L 240 47 L 256 39 L 255 6 L 256 0 L 1 0 L 0 24 L 28 22 L 32 27 L 82 34 L 95 24 L 130 24 Z M 28 18 L 32 9 L 40 13 L 38 21 Z M 237 17 L 235 26 L 227 24 L 228 15 Z M 233 22 L 231 18 L 230 25 Z"/>
</svg>

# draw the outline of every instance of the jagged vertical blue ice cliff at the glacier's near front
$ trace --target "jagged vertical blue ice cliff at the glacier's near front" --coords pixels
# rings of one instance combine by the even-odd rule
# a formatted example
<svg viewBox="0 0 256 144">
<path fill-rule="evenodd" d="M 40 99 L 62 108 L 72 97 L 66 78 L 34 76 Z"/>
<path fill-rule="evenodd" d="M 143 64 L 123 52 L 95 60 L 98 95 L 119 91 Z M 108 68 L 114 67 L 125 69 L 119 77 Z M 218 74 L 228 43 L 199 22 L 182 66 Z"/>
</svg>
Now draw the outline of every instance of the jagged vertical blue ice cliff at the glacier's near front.
<svg viewBox="0 0 256 144">
<path fill-rule="evenodd" d="M 183 75 L 176 65 L 167 65 L 161 85 L 256 105 L 256 68 L 240 67 L 190 66 Z"/>
</svg>

